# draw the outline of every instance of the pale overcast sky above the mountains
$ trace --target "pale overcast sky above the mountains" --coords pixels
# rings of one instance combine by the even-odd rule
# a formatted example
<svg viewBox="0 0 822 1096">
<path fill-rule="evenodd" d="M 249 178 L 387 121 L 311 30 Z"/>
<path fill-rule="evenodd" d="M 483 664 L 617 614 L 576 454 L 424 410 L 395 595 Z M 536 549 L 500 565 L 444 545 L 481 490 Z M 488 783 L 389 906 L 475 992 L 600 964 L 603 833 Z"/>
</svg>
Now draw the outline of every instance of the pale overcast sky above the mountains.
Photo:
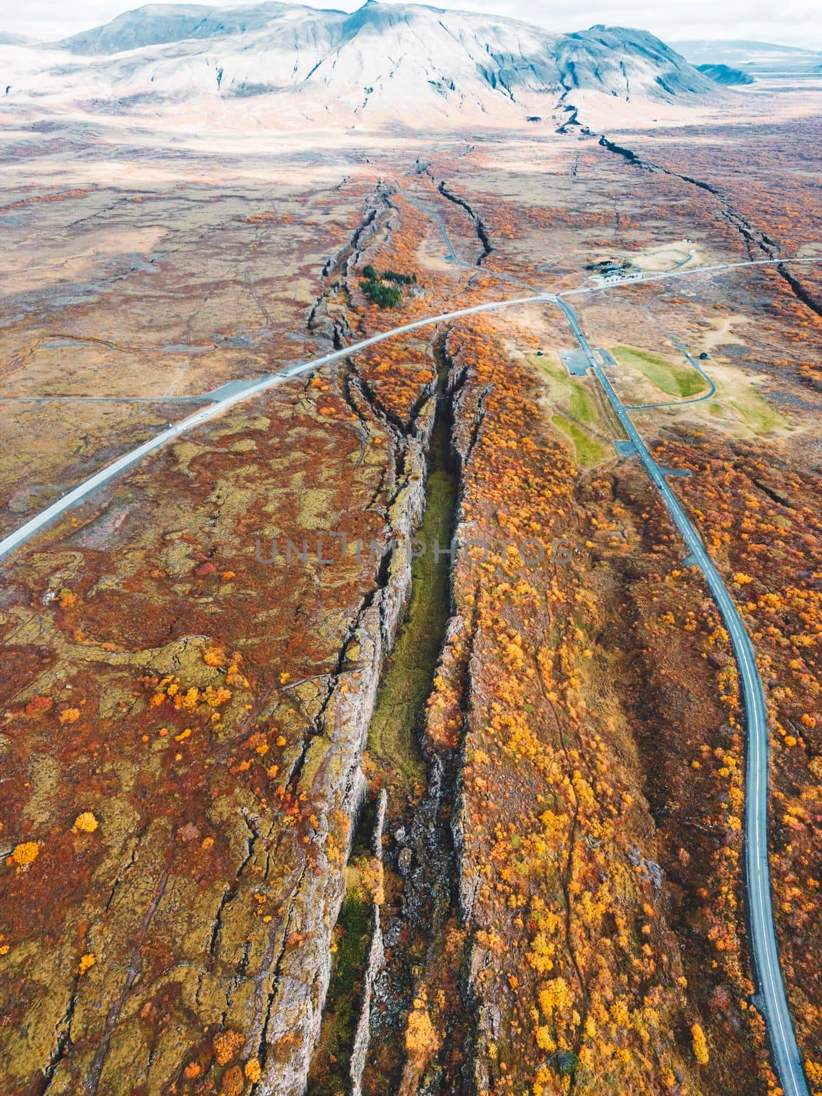
<svg viewBox="0 0 822 1096">
<path fill-rule="evenodd" d="M 610 23 L 641 26 L 667 41 L 750 38 L 822 48 L 819 0 L 439 0 L 434 5 L 510 15 L 551 31 Z M 137 7 L 135 0 L 0 0 L 0 32 L 59 38 Z M 210 7 L 231 4 L 212 0 Z M 359 0 L 316 0 L 312 7 L 353 11 Z"/>
</svg>

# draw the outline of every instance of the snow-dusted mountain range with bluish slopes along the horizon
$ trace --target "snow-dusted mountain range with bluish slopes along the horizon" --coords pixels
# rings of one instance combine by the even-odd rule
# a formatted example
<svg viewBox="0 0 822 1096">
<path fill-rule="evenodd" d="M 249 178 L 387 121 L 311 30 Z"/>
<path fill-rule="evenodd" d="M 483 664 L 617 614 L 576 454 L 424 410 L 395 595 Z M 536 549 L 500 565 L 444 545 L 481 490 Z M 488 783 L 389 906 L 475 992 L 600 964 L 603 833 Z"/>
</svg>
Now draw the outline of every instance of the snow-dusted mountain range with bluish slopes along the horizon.
<svg viewBox="0 0 822 1096">
<path fill-rule="evenodd" d="M 644 31 L 594 26 L 550 34 L 515 20 L 368 2 L 346 14 L 267 2 L 237 8 L 149 4 L 105 26 L 0 64 L 13 100 L 162 112 L 210 102 L 215 117 L 520 123 L 578 91 L 626 102 L 717 93 Z M 32 70 L 26 71 L 26 64 Z M 220 101 L 219 105 L 215 100 Z"/>
</svg>

